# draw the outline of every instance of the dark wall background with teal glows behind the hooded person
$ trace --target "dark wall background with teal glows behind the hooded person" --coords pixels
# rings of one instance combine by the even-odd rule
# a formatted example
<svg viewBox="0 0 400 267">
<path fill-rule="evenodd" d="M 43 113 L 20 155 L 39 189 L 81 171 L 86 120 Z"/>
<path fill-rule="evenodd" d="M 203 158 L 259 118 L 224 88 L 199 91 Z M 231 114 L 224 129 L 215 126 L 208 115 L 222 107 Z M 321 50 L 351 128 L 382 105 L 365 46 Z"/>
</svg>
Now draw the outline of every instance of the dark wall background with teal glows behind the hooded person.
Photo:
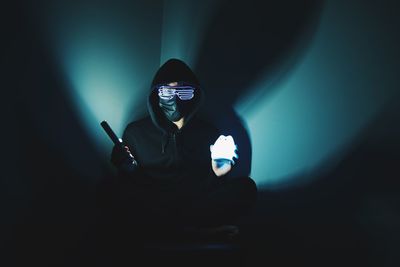
<svg viewBox="0 0 400 267">
<path fill-rule="evenodd" d="M 398 11 L 389 0 L 7 4 L 5 254 L 66 266 L 85 254 L 96 186 L 115 171 L 99 123 L 121 134 L 143 116 L 152 76 L 176 57 L 204 85 L 202 115 L 237 140 L 235 171 L 259 186 L 249 265 L 397 266 Z"/>
</svg>

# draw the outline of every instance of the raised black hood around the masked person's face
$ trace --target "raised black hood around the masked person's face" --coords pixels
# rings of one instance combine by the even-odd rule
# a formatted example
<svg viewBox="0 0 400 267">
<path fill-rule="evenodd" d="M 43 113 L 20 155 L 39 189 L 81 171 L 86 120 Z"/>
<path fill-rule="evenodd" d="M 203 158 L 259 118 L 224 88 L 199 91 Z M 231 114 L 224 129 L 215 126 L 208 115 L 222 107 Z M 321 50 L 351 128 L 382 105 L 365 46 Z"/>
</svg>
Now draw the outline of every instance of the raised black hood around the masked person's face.
<svg viewBox="0 0 400 267">
<path fill-rule="evenodd" d="M 170 59 L 165 62 L 154 75 L 151 83 L 150 95 L 148 98 L 148 110 L 153 123 L 163 132 L 173 132 L 176 126 L 169 121 L 159 107 L 158 92 L 155 89 L 157 85 L 167 84 L 171 82 L 185 82 L 196 87 L 193 104 L 190 107 L 188 114 L 185 116 L 185 123 L 188 124 L 190 119 L 195 115 L 204 98 L 204 92 L 200 87 L 199 81 L 193 71 L 183 61 L 179 59 Z"/>
</svg>

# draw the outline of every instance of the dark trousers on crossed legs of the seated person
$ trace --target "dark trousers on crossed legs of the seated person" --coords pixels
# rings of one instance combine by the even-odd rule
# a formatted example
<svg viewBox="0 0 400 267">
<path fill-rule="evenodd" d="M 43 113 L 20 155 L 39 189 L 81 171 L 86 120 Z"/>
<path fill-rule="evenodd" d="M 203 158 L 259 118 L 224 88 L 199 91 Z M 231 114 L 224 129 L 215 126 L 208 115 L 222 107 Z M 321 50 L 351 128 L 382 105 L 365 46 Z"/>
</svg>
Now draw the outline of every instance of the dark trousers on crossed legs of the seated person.
<svg viewBox="0 0 400 267">
<path fill-rule="evenodd" d="M 185 227 L 236 224 L 253 208 L 257 187 L 249 177 L 215 178 L 200 192 L 119 180 L 108 186 L 101 221 L 106 231 L 135 240 L 168 237 Z"/>
</svg>

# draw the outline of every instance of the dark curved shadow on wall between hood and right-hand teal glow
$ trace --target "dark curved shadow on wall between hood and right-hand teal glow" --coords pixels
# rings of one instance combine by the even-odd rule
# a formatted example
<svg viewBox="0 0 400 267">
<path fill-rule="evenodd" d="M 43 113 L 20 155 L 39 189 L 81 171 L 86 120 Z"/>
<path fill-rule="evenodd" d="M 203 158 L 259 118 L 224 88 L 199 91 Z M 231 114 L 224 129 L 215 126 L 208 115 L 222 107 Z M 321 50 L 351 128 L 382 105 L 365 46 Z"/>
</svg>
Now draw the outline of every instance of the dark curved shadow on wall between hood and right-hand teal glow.
<svg viewBox="0 0 400 267">
<path fill-rule="evenodd" d="M 317 0 L 222 1 L 208 24 L 194 68 L 206 93 L 202 113 L 233 135 L 241 157 L 237 175 L 250 173 L 251 140 L 233 105 L 259 79 L 281 79 L 296 64 L 321 7 Z"/>
</svg>

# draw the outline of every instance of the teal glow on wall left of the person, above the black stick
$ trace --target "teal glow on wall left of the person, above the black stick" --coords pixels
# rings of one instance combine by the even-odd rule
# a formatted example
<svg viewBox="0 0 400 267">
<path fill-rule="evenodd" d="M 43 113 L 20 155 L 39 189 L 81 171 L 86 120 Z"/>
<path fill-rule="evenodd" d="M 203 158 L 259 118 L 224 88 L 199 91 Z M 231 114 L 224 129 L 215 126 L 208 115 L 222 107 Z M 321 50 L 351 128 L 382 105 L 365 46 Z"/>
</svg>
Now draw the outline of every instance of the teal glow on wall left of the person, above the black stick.
<svg viewBox="0 0 400 267">
<path fill-rule="evenodd" d="M 152 3 L 57 1 L 43 14 L 72 102 L 100 155 L 111 148 L 102 120 L 122 135 L 145 113 L 146 90 L 159 66 L 161 10 Z"/>
</svg>

